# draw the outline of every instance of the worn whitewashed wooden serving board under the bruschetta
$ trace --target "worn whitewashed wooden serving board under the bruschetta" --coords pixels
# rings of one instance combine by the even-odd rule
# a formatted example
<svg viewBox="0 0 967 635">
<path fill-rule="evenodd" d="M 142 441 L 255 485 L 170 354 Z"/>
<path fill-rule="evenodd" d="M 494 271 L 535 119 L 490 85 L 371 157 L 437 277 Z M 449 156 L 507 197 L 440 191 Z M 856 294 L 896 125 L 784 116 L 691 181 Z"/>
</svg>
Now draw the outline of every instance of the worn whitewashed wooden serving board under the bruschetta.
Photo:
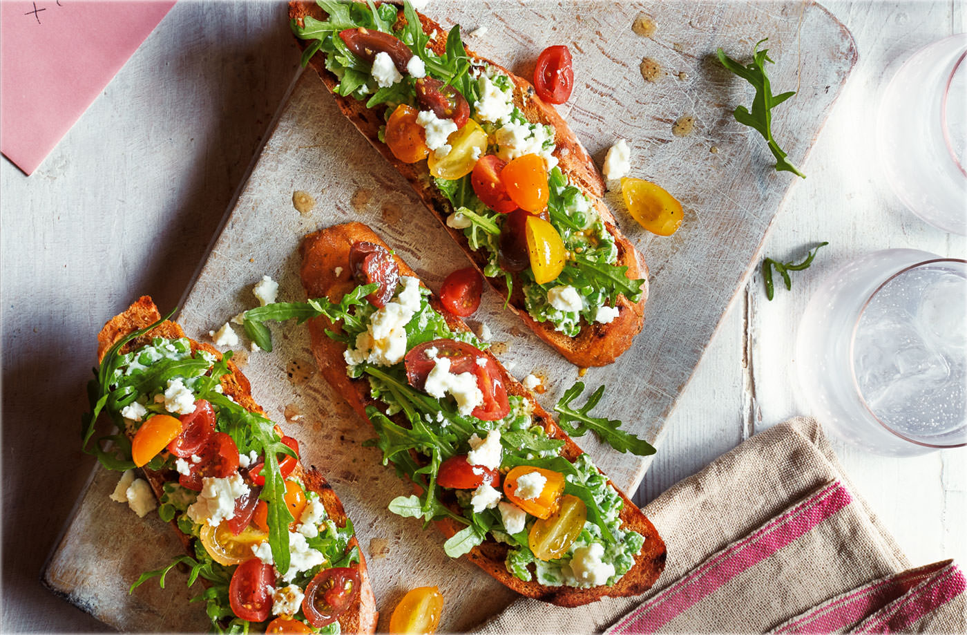
<svg viewBox="0 0 967 635">
<path fill-rule="evenodd" d="M 493 2 L 437 3 L 429 13 L 464 33 L 486 26 L 484 39 L 466 38 L 469 48 L 532 73 L 535 52 L 568 44 L 576 85 L 562 112 L 574 133 L 601 164 L 614 140 L 633 148 L 632 175 L 659 182 L 686 208 L 685 222 L 672 237 L 640 229 L 612 198 L 615 215 L 650 268 L 651 295 L 645 327 L 614 365 L 584 377 L 608 392 L 600 411 L 659 444 L 664 418 L 685 387 L 736 289 L 754 265 L 779 203 L 795 183 L 772 169 L 762 139 L 732 118 L 748 105 L 747 84 L 730 76 L 715 58 L 718 46 L 747 59 L 768 37 L 775 66 L 775 92 L 798 90 L 776 113 L 776 131 L 794 163 L 808 149 L 856 61 L 845 28 L 814 3 L 629 3 Z M 650 36 L 632 31 L 641 14 L 650 16 Z M 655 81 L 639 70 L 644 58 L 659 66 Z M 683 117 L 693 130 L 673 134 Z M 808 173 L 808 165 L 805 166 Z M 317 203 L 308 214 L 292 204 L 302 190 Z M 297 248 L 302 236 L 348 220 L 375 228 L 434 289 L 466 258 L 426 212 L 408 184 L 338 111 L 311 72 L 295 85 L 278 124 L 230 210 L 211 256 L 190 289 L 179 320 L 190 336 L 204 339 L 228 318 L 255 304 L 252 285 L 268 274 L 279 282 L 279 300 L 302 300 Z M 495 351 L 518 378 L 547 378 L 542 404 L 550 409 L 577 378 L 577 369 L 558 357 L 510 313 L 496 293 L 484 293 L 470 320 L 491 330 Z M 241 335 L 241 328 L 238 328 Z M 441 630 L 465 630 L 506 606 L 513 593 L 464 559 L 449 559 L 442 538 L 413 520 L 399 519 L 387 503 L 408 487 L 380 454 L 365 448 L 371 436 L 360 420 L 313 374 L 305 329 L 274 327 L 272 353 L 236 353 L 251 380 L 256 400 L 285 431 L 302 442 L 302 456 L 330 479 L 352 517 L 386 628 L 405 590 L 439 586 L 445 596 Z M 93 334 L 92 334 L 93 337 Z M 714 399 L 715 396 L 710 396 Z M 620 487 L 633 489 L 647 458 L 622 455 L 596 439 L 578 439 Z M 659 447 L 660 451 L 660 447 Z M 144 570 L 170 561 L 179 550 L 157 518 L 142 521 L 107 499 L 116 475 L 96 469 L 78 501 L 73 520 L 44 573 L 48 587 L 99 619 L 122 630 L 205 630 L 200 606 L 187 603 L 185 576 L 174 571 L 167 589 L 127 587 Z M 659 528 L 660 531 L 661 528 Z"/>
</svg>

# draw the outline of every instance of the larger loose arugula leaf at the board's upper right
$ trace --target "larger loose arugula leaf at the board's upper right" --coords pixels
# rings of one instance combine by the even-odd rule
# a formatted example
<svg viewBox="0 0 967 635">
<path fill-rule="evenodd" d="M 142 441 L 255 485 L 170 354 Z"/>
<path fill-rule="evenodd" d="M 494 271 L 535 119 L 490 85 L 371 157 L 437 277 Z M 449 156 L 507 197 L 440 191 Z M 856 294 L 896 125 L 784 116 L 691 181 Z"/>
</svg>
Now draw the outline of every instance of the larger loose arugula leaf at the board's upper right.
<svg viewBox="0 0 967 635">
<path fill-rule="evenodd" d="M 779 144 L 773 137 L 773 114 L 772 109 L 796 94 L 796 91 L 789 91 L 781 95 L 773 95 L 772 87 L 769 84 L 769 77 L 766 76 L 765 63 L 775 64 L 769 57 L 769 49 L 759 50 L 759 45 L 768 42 L 769 38 L 763 38 L 755 43 L 752 50 L 752 62 L 743 66 L 725 54 L 721 48 L 718 49 L 718 61 L 722 66 L 737 76 L 742 77 L 755 88 L 755 97 L 752 99 L 752 111 L 749 112 L 746 106 L 737 106 L 735 120 L 740 124 L 748 126 L 758 131 L 760 135 L 769 143 L 769 149 L 776 157 L 776 170 L 787 171 L 806 178 L 806 174 L 799 171 L 796 166 L 786 161 L 786 153 L 779 148 Z"/>
</svg>

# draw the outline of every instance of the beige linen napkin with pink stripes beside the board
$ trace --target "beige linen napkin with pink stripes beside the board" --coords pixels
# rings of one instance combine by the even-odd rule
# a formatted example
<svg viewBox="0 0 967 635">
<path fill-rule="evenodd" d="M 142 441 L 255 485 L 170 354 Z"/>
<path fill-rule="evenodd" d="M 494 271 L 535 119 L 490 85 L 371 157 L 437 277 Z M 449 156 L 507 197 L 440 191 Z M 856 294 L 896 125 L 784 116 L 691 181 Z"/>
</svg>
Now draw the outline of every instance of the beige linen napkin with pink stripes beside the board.
<svg viewBox="0 0 967 635">
<path fill-rule="evenodd" d="M 967 632 L 963 573 L 910 569 L 814 419 L 749 438 L 644 511 L 668 548 L 647 594 L 576 609 L 522 598 L 477 632 Z"/>
</svg>

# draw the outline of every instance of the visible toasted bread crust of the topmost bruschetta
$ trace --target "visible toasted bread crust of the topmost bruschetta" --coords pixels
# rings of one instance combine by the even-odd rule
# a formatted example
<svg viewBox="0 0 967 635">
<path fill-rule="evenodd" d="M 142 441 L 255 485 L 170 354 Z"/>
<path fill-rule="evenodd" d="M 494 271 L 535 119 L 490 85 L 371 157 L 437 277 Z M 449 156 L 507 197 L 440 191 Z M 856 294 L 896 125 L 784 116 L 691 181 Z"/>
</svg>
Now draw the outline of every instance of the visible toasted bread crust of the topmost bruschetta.
<svg viewBox="0 0 967 635">
<path fill-rule="evenodd" d="M 310 15 L 317 19 L 324 19 L 326 14 L 314 2 L 290 2 L 289 17 L 296 23 L 302 25 L 303 19 Z M 398 20 L 405 23 L 402 10 L 398 13 Z M 429 19 L 425 15 L 420 15 L 424 32 L 429 36 L 429 47 L 437 54 L 443 54 L 446 50 L 447 33 L 439 24 Z M 297 38 L 298 40 L 298 38 Z M 306 47 L 306 42 L 299 40 L 299 44 Z M 608 324 L 594 323 L 589 324 L 582 321 L 580 333 L 576 337 L 569 337 L 564 333 L 554 330 L 554 325 L 549 322 L 539 322 L 527 313 L 524 306 L 524 294 L 521 288 L 523 284 L 517 276 L 513 277 L 513 294 L 509 306 L 513 312 L 527 324 L 544 342 L 555 348 L 571 363 L 581 367 L 605 366 L 617 359 L 623 352 L 631 346 L 634 336 L 641 331 L 644 321 L 645 301 L 648 299 L 648 267 L 642 257 L 631 245 L 628 238 L 622 234 L 617 227 L 614 216 L 608 210 L 601 199 L 604 196 L 604 181 L 601 173 L 595 166 L 594 161 L 588 154 L 584 146 L 581 145 L 577 137 L 571 132 L 567 122 L 558 114 L 554 106 L 542 102 L 534 90 L 534 87 L 524 78 L 515 76 L 504 67 L 484 59 L 472 51 L 467 51 L 470 58 L 482 64 L 489 64 L 502 73 L 507 74 L 513 79 L 513 103 L 520 108 L 521 112 L 528 121 L 551 126 L 555 131 L 555 143 L 557 149 L 554 156 L 558 159 L 558 166 L 564 172 L 571 183 L 580 188 L 586 195 L 591 197 L 594 208 L 601 216 L 605 227 L 615 238 L 615 245 L 618 248 L 618 266 L 628 267 L 628 277 L 631 280 L 643 279 L 641 299 L 638 302 L 630 302 L 624 295 L 618 297 L 615 305 L 619 310 L 617 318 Z M 342 112 L 356 126 L 363 136 L 369 140 L 376 150 L 378 150 L 387 161 L 390 162 L 402 174 L 410 185 L 421 197 L 426 207 L 433 212 L 441 225 L 450 232 L 456 243 L 466 252 L 477 268 L 483 272 L 486 265 L 484 252 L 475 252 L 470 249 L 467 238 L 462 229 L 454 229 L 447 226 L 447 218 L 454 212 L 454 207 L 447 197 L 444 197 L 433 183 L 426 167 L 426 163 L 421 161 L 415 164 L 405 164 L 393 155 L 390 148 L 379 140 L 379 129 L 385 125 L 383 118 L 385 105 L 367 108 L 364 102 L 358 101 L 352 96 L 343 97 L 334 92 L 339 80 L 330 71 L 326 70 L 326 58 L 323 53 L 316 53 L 309 60 L 309 64 L 315 69 L 316 73 L 322 78 L 326 87 L 333 93 L 337 105 Z M 454 267 L 455 267 L 454 263 Z M 507 285 L 503 276 L 486 278 L 491 287 L 495 288 L 502 295 L 507 295 Z"/>
</svg>

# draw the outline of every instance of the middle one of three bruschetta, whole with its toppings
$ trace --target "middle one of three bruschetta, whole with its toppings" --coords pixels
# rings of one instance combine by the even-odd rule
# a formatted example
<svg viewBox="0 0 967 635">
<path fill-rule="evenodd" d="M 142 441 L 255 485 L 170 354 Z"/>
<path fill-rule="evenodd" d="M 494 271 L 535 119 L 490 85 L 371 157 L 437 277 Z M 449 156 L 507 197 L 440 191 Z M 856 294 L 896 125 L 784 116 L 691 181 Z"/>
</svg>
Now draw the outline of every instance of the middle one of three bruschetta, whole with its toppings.
<svg viewBox="0 0 967 635">
<path fill-rule="evenodd" d="M 265 321 L 308 319 L 321 374 L 373 425 L 384 465 L 415 486 L 415 495 L 388 501 L 391 511 L 434 521 L 448 556 L 467 555 L 513 590 L 554 604 L 654 584 L 665 557 L 658 531 L 562 429 L 654 452 L 619 422 L 588 413 L 600 394 L 585 408 L 559 405 L 558 425 L 362 224 L 307 236 L 302 255 L 311 299 L 252 309 L 246 331 L 271 348 Z"/>
</svg>

